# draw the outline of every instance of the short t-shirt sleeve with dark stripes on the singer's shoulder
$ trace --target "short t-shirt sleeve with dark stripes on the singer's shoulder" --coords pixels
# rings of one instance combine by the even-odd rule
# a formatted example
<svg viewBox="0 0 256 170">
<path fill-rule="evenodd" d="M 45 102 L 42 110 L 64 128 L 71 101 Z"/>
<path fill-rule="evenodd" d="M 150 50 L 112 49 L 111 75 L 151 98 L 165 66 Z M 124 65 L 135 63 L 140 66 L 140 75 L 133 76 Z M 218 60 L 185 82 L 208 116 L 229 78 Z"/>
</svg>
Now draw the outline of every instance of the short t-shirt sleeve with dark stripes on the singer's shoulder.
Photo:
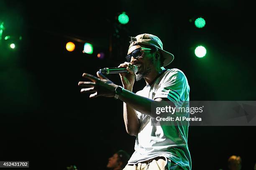
<svg viewBox="0 0 256 170">
<path fill-rule="evenodd" d="M 160 87 L 156 90 L 154 99 L 168 98 L 177 107 L 181 107 L 187 100 L 189 86 L 184 73 L 178 69 L 170 71 L 163 77 Z"/>
</svg>

